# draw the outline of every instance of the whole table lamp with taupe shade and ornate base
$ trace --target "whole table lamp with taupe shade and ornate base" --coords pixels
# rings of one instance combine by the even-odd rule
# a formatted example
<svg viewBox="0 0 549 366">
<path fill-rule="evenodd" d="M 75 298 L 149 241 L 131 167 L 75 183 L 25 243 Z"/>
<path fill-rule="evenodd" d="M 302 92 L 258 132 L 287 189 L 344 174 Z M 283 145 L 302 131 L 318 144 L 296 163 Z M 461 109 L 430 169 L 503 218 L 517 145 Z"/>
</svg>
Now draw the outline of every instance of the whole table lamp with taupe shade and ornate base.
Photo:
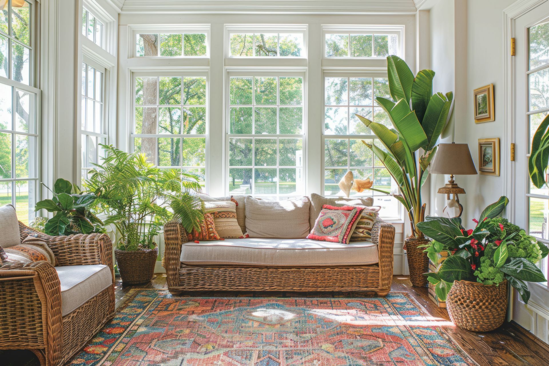
<svg viewBox="0 0 549 366">
<path fill-rule="evenodd" d="M 463 206 L 460 204 L 458 194 L 465 194 L 465 190 L 455 183 L 453 176 L 477 174 L 477 169 L 469 152 L 469 146 L 454 142 L 451 144 L 439 144 L 429 172 L 433 174 L 450 174 L 450 181 L 444 187 L 439 188 L 438 193 L 446 194 L 447 199 L 450 199 L 450 195 L 453 194 L 460 210 L 460 214 L 456 217 L 460 217 L 463 213 Z"/>
</svg>

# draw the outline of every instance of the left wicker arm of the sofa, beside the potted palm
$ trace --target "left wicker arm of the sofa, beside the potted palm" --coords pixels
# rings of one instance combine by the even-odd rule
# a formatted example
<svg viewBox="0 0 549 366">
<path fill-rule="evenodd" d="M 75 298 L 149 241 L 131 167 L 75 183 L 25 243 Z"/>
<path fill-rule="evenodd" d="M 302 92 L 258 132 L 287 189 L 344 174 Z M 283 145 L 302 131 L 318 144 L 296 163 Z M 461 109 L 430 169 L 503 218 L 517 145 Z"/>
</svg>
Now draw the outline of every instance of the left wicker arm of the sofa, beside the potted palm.
<svg viewBox="0 0 549 366">
<path fill-rule="evenodd" d="M 181 267 L 181 245 L 187 243 L 187 232 L 177 220 L 164 225 L 164 268 L 168 288 L 180 285 L 179 268 Z"/>
</svg>

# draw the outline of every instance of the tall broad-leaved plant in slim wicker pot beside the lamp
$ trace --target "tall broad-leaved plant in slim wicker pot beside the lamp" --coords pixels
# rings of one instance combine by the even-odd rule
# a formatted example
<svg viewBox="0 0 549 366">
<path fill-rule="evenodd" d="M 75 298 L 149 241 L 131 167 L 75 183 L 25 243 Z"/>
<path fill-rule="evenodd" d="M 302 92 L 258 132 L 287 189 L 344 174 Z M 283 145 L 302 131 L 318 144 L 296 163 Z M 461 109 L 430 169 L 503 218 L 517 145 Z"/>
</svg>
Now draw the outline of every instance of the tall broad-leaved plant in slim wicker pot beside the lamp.
<svg viewBox="0 0 549 366">
<path fill-rule="evenodd" d="M 423 273 L 427 272 L 429 260 L 422 246 L 429 241 L 418 227 L 418 223 L 425 219 L 421 188 L 427 180 L 438 138 L 446 126 L 453 94 L 432 94 L 435 72 L 421 70 L 414 77 L 410 67 L 399 57 L 387 57 L 387 72 L 393 100 L 377 97 L 376 101 L 387 112 L 394 128 L 389 129 L 363 116 L 357 117 L 385 147 L 383 150 L 363 142 L 382 161 L 400 187 L 401 192 L 393 196 L 405 207 L 412 228 L 412 234 L 405 240 L 410 280 L 414 286 L 425 286 L 427 280 Z"/>
</svg>

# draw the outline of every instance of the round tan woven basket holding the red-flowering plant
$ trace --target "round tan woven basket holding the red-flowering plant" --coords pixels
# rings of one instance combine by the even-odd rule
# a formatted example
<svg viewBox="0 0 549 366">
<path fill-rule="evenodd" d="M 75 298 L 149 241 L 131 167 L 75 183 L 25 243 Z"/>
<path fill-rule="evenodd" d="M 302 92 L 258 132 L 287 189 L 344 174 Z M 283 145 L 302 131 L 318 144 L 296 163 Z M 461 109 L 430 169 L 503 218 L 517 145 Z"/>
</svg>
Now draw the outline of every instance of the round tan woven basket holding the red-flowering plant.
<svg viewBox="0 0 549 366">
<path fill-rule="evenodd" d="M 490 331 L 505 321 L 507 314 L 507 281 L 498 285 L 454 281 L 446 308 L 450 320 L 471 331 Z"/>
</svg>

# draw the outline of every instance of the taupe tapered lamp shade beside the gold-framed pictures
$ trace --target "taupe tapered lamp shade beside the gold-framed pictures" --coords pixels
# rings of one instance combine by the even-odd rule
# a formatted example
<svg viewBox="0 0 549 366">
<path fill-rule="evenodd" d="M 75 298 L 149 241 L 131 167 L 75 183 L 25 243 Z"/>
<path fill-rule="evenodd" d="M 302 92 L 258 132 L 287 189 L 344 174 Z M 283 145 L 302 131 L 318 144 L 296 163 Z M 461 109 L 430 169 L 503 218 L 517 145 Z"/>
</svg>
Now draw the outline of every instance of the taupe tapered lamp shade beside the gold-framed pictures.
<svg viewBox="0 0 549 366">
<path fill-rule="evenodd" d="M 435 160 L 429 168 L 433 174 L 477 174 L 477 169 L 467 144 L 439 144 Z"/>
</svg>

